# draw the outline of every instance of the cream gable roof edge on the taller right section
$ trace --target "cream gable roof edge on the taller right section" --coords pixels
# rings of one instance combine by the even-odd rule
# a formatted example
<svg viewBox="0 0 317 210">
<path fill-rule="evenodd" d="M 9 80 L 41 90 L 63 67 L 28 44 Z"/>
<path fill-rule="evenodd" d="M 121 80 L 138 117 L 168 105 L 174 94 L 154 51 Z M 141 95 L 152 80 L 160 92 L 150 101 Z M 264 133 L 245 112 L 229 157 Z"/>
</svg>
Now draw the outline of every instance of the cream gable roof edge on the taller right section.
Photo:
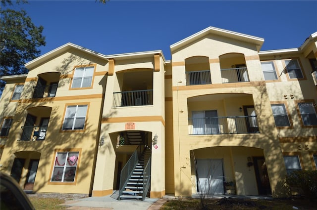
<svg viewBox="0 0 317 210">
<path fill-rule="evenodd" d="M 260 51 L 262 44 L 264 42 L 263 38 L 260 37 L 254 37 L 254 36 L 250 36 L 250 35 L 246 35 L 246 34 L 241 34 L 241 33 L 237 33 L 237 32 L 233 32 L 233 31 L 228 31 L 228 30 L 224 30 L 224 29 L 219 29 L 219 28 L 215 28 L 215 27 L 208 27 L 192 36 L 189 36 L 179 42 L 176 42 L 172 45 L 170 45 L 170 50 L 171 52 L 173 52 L 174 50 L 190 43 L 190 42 L 194 42 L 198 39 L 201 39 L 202 37 L 205 37 L 209 34 L 215 34 L 215 35 L 219 35 L 222 37 L 227 37 L 230 39 L 234 39 L 234 40 L 239 40 L 242 42 L 248 42 L 248 43 L 254 43 L 257 45 L 257 50 L 258 52 Z"/>
</svg>

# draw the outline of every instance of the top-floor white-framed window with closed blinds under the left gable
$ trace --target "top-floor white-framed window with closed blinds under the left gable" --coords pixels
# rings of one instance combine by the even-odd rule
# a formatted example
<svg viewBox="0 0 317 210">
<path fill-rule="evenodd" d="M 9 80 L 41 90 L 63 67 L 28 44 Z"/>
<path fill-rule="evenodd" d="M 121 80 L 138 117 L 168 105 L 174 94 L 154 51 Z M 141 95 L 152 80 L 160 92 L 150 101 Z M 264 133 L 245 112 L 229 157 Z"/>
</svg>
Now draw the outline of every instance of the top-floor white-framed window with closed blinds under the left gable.
<svg viewBox="0 0 317 210">
<path fill-rule="evenodd" d="M 76 68 L 71 88 L 90 87 L 93 81 L 94 68 L 94 66 Z"/>
</svg>

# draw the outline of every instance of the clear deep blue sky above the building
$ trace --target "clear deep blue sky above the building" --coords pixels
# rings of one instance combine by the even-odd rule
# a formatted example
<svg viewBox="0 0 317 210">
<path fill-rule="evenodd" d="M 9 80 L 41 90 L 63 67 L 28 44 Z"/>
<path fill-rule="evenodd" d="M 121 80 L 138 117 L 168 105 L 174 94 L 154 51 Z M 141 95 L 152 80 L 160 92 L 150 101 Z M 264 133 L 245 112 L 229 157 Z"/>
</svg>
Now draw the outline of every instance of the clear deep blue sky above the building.
<svg viewBox="0 0 317 210">
<path fill-rule="evenodd" d="M 209 26 L 264 38 L 261 49 L 299 47 L 317 31 L 317 1 L 29 0 L 15 6 L 44 26 L 42 54 L 67 42 L 109 55 L 162 50 Z"/>
</svg>

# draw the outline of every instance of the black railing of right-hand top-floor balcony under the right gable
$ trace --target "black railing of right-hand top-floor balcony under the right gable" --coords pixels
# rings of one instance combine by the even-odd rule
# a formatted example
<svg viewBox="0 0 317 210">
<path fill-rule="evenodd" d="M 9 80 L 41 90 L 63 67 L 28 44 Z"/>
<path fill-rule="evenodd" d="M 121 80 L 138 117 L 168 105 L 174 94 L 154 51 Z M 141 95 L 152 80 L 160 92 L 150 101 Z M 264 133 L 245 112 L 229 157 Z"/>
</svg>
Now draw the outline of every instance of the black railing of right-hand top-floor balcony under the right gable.
<svg viewBox="0 0 317 210">
<path fill-rule="evenodd" d="M 240 83 L 249 82 L 248 69 L 233 68 L 233 69 L 221 69 L 222 83 Z"/>
</svg>

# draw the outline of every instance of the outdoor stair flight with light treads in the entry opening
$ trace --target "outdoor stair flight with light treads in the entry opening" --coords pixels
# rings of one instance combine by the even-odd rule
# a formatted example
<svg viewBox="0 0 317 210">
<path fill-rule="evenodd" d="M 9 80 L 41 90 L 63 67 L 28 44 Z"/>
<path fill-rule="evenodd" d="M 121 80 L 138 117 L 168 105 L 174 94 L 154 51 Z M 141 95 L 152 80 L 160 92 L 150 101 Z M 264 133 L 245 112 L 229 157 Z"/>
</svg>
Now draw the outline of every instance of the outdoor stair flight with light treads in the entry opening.
<svg viewBox="0 0 317 210">
<path fill-rule="evenodd" d="M 129 181 L 124 186 L 125 190 L 119 196 L 120 200 L 142 200 L 143 199 L 143 170 L 144 164 L 151 157 L 151 150 L 147 149 L 142 154 L 138 164 L 134 168 L 132 175 L 128 178 Z"/>
</svg>

